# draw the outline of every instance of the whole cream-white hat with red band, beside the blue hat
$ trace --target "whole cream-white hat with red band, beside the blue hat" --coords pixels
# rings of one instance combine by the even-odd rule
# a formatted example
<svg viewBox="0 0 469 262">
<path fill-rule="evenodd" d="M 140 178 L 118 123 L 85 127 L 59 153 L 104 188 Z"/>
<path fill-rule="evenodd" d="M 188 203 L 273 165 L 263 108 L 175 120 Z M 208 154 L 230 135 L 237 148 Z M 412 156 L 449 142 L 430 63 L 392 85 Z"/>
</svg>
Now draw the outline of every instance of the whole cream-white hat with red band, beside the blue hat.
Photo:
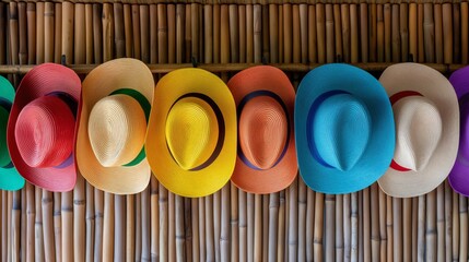
<svg viewBox="0 0 469 262">
<path fill-rule="evenodd" d="M 396 152 L 379 187 L 396 198 L 425 194 L 445 180 L 456 159 L 459 108 L 455 90 L 443 74 L 419 63 L 390 66 L 379 82 L 396 121 Z"/>
</svg>

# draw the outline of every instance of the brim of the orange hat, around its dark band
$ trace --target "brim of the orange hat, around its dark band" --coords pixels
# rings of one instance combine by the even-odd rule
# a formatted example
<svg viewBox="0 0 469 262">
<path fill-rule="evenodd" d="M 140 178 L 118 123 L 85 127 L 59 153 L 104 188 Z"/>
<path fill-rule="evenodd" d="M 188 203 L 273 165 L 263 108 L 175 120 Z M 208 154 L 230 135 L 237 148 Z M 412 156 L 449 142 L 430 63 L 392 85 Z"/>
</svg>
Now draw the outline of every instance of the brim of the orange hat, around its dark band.
<svg viewBox="0 0 469 262">
<path fill-rule="evenodd" d="M 238 116 L 241 115 L 239 104 L 245 97 L 259 91 L 268 91 L 282 99 L 290 120 L 288 147 L 279 163 L 266 170 L 254 169 L 237 155 L 236 166 L 231 178 L 232 182 L 250 193 L 273 193 L 285 189 L 293 182 L 298 170 L 293 133 L 293 109 L 295 104 L 293 85 L 283 71 L 269 66 L 245 69 L 234 75 L 227 85 L 238 107 Z"/>
</svg>

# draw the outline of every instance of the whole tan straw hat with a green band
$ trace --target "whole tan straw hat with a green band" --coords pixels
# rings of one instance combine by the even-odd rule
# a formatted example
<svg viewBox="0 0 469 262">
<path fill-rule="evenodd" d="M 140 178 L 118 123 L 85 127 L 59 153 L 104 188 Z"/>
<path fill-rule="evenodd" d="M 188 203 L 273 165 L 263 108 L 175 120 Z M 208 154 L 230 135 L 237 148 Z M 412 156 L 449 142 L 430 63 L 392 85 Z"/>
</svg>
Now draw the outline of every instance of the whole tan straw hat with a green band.
<svg viewBox="0 0 469 262">
<path fill-rule="evenodd" d="M 154 80 L 141 61 L 102 63 L 83 81 L 77 163 L 94 187 L 115 194 L 143 191 L 150 182 L 144 153 Z"/>
</svg>

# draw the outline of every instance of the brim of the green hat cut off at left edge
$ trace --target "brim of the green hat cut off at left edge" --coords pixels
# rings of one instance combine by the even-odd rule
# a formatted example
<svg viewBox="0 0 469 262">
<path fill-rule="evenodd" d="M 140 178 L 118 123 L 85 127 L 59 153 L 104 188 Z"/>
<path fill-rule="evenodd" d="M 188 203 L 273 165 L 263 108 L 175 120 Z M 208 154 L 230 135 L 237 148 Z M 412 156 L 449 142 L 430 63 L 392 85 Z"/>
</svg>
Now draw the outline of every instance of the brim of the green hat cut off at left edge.
<svg viewBox="0 0 469 262">
<path fill-rule="evenodd" d="M 0 97 L 13 104 L 14 88 L 3 76 L 0 76 Z M 24 178 L 17 172 L 15 167 L 0 168 L 1 190 L 19 190 L 24 187 Z"/>
</svg>

